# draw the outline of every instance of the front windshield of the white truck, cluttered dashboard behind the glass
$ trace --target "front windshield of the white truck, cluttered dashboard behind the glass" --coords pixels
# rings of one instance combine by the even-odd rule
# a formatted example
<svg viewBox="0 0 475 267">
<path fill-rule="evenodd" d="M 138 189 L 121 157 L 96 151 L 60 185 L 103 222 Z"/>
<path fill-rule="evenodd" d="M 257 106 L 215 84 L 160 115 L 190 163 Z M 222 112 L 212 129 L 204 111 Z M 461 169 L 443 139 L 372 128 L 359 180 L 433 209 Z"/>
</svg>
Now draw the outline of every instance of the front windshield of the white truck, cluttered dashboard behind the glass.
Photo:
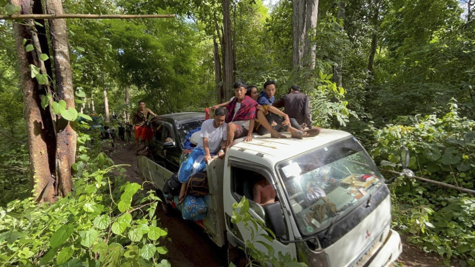
<svg viewBox="0 0 475 267">
<path fill-rule="evenodd" d="M 283 162 L 278 170 L 304 235 L 328 227 L 368 199 L 383 179 L 354 137 Z"/>
</svg>

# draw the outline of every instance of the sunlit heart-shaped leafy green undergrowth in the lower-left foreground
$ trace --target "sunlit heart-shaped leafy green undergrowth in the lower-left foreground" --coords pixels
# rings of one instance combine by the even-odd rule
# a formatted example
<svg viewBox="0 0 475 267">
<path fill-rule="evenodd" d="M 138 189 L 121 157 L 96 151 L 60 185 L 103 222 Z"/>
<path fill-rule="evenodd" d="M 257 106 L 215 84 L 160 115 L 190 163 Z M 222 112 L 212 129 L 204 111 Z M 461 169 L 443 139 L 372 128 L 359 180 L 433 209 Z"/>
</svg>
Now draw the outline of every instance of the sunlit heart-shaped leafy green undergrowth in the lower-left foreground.
<svg viewBox="0 0 475 267">
<path fill-rule="evenodd" d="M 160 201 L 140 184 L 125 182 L 110 158 L 78 138 L 74 190 L 50 204 L 17 199 L 0 208 L 0 260 L 3 266 L 170 266 L 160 260 L 167 229 L 157 226 Z M 112 189 L 113 188 L 113 189 Z M 100 257 L 97 257 L 100 255 Z"/>
</svg>

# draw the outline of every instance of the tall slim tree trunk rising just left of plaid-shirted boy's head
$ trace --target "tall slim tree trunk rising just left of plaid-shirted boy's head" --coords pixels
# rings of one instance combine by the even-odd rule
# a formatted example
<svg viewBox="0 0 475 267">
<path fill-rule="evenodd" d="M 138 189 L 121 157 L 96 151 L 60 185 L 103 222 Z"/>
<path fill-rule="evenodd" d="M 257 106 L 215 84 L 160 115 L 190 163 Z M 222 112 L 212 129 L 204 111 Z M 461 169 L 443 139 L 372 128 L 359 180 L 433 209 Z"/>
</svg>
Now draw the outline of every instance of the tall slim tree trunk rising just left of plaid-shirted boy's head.
<svg viewBox="0 0 475 267">
<path fill-rule="evenodd" d="M 224 97 L 231 98 L 234 84 L 234 49 L 231 32 L 230 0 L 223 0 L 223 88 Z"/>
</svg>

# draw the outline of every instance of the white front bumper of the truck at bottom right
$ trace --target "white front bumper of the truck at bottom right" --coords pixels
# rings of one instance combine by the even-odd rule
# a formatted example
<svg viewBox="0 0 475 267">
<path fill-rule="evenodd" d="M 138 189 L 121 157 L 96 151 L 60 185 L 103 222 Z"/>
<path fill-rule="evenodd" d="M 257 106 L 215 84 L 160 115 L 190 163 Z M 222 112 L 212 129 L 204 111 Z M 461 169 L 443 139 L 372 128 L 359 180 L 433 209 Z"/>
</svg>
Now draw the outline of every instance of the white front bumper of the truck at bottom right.
<svg viewBox="0 0 475 267">
<path fill-rule="evenodd" d="M 378 248 L 378 251 L 373 254 L 372 259 L 370 259 L 365 266 L 368 267 L 381 267 L 381 266 L 390 266 L 401 254 L 402 252 L 402 242 L 399 234 L 389 229 L 386 240 Z"/>
</svg>

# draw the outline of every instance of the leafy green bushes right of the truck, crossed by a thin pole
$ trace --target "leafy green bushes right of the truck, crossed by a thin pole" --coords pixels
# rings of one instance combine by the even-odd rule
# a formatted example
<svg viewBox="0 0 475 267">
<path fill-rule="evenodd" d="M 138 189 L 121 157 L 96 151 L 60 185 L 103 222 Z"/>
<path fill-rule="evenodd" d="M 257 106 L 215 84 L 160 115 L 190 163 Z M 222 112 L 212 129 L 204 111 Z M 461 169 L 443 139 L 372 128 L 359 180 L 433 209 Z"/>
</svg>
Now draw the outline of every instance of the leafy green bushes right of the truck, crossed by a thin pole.
<svg viewBox="0 0 475 267">
<path fill-rule="evenodd" d="M 474 188 L 475 121 L 460 117 L 456 103 L 449 109 L 441 118 L 399 117 L 382 129 L 371 125 L 370 154 L 384 168 L 397 168 L 405 145 L 417 176 Z M 452 257 L 475 265 L 474 196 L 413 178 L 397 178 L 391 187 L 393 225 L 409 234 L 409 241 L 445 257 L 447 265 Z"/>
</svg>

